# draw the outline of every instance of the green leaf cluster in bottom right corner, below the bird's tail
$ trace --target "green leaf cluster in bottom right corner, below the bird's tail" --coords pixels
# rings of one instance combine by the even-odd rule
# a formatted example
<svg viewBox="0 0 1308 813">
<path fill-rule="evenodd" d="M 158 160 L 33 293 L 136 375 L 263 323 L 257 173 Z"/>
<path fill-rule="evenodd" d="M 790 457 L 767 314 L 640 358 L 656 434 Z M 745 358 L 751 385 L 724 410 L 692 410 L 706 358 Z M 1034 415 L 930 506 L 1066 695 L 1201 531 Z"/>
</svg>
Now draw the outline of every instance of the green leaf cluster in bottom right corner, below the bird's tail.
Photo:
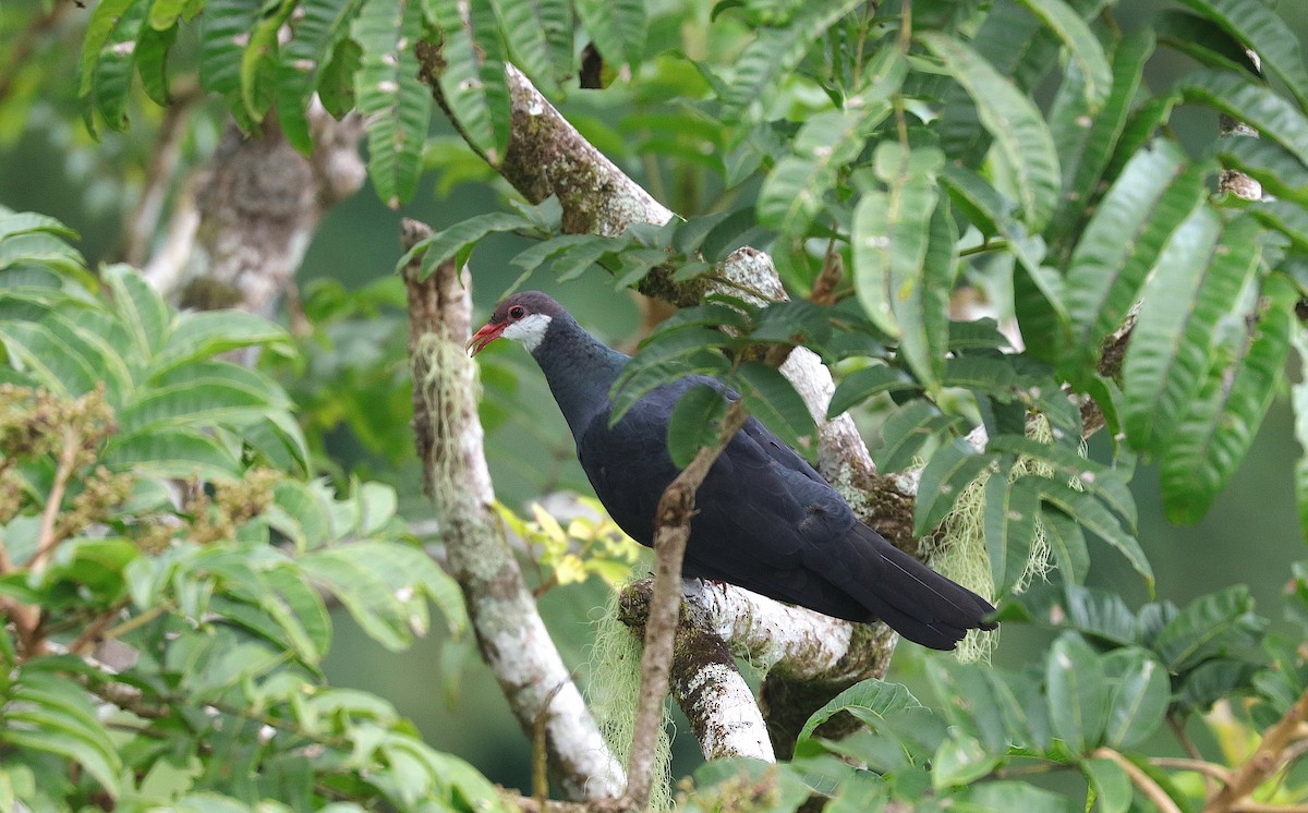
<svg viewBox="0 0 1308 813">
<path fill-rule="evenodd" d="M 1301 575 L 1299 566 L 1294 584 Z M 1303 596 L 1292 592 L 1287 606 L 1301 621 Z M 824 810 L 896 803 L 1126 810 L 1160 796 L 1199 809 L 1206 791 L 1193 771 L 1230 779 L 1245 757 L 1222 753 L 1214 741 L 1275 724 L 1308 690 L 1303 654 L 1266 634 L 1269 620 L 1254 613 L 1245 588 L 1133 612 L 1109 592 L 1048 587 L 1006 604 L 1001 618 L 1049 627 L 1057 638 L 1039 663 L 1019 671 L 927 660 L 933 706 L 900 684 L 850 686 L 810 718 L 794 762 L 710 763 L 696 771 L 687 809 L 781 813 L 804 803 L 815 809 L 808 800 L 818 797 Z M 1209 714 L 1215 699 L 1241 695 L 1243 706 Z M 824 738 L 823 724 L 840 714 L 865 728 Z M 1205 735 L 1198 741 L 1185 733 L 1192 718 Z M 1181 737 L 1192 761 L 1154 757 L 1165 731 Z M 1053 793 L 1027 779 L 1054 772 L 1079 775 L 1082 789 Z M 1260 793 L 1275 792 L 1278 803 L 1303 799 L 1301 787 L 1281 778 L 1267 784 Z"/>
</svg>

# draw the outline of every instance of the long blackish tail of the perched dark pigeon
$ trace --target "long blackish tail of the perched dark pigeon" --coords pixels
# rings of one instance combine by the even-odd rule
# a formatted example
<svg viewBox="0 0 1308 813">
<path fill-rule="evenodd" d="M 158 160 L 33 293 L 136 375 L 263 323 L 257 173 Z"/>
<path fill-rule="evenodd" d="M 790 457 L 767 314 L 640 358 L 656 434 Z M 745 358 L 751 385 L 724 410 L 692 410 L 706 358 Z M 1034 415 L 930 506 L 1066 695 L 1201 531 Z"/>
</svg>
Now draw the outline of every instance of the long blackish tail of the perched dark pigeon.
<svg viewBox="0 0 1308 813">
<path fill-rule="evenodd" d="M 933 650 L 952 650 L 968 630 L 993 630 L 994 606 L 855 523 L 865 572 L 840 587 L 896 633 Z"/>
</svg>

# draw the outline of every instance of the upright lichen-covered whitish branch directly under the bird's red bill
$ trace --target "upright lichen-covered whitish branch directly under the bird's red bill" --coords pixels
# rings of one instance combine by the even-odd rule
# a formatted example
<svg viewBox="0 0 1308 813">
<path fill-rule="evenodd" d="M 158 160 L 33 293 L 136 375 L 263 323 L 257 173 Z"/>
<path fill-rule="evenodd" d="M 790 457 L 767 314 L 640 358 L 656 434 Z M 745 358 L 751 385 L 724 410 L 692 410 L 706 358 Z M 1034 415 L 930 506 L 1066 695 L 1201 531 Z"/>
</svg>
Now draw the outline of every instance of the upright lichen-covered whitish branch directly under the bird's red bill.
<svg viewBox="0 0 1308 813">
<path fill-rule="evenodd" d="M 416 221 L 404 227 L 405 248 L 430 234 Z M 405 269 L 413 429 L 450 574 L 463 588 L 481 656 L 523 731 L 530 736 L 544 720 L 551 767 L 566 796 L 617 796 L 625 787 L 623 769 L 555 648 L 490 510 L 476 371 L 463 352 L 472 335 L 467 272 L 458 273 L 450 261 L 419 280 L 416 265 Z"/>
</svg>

